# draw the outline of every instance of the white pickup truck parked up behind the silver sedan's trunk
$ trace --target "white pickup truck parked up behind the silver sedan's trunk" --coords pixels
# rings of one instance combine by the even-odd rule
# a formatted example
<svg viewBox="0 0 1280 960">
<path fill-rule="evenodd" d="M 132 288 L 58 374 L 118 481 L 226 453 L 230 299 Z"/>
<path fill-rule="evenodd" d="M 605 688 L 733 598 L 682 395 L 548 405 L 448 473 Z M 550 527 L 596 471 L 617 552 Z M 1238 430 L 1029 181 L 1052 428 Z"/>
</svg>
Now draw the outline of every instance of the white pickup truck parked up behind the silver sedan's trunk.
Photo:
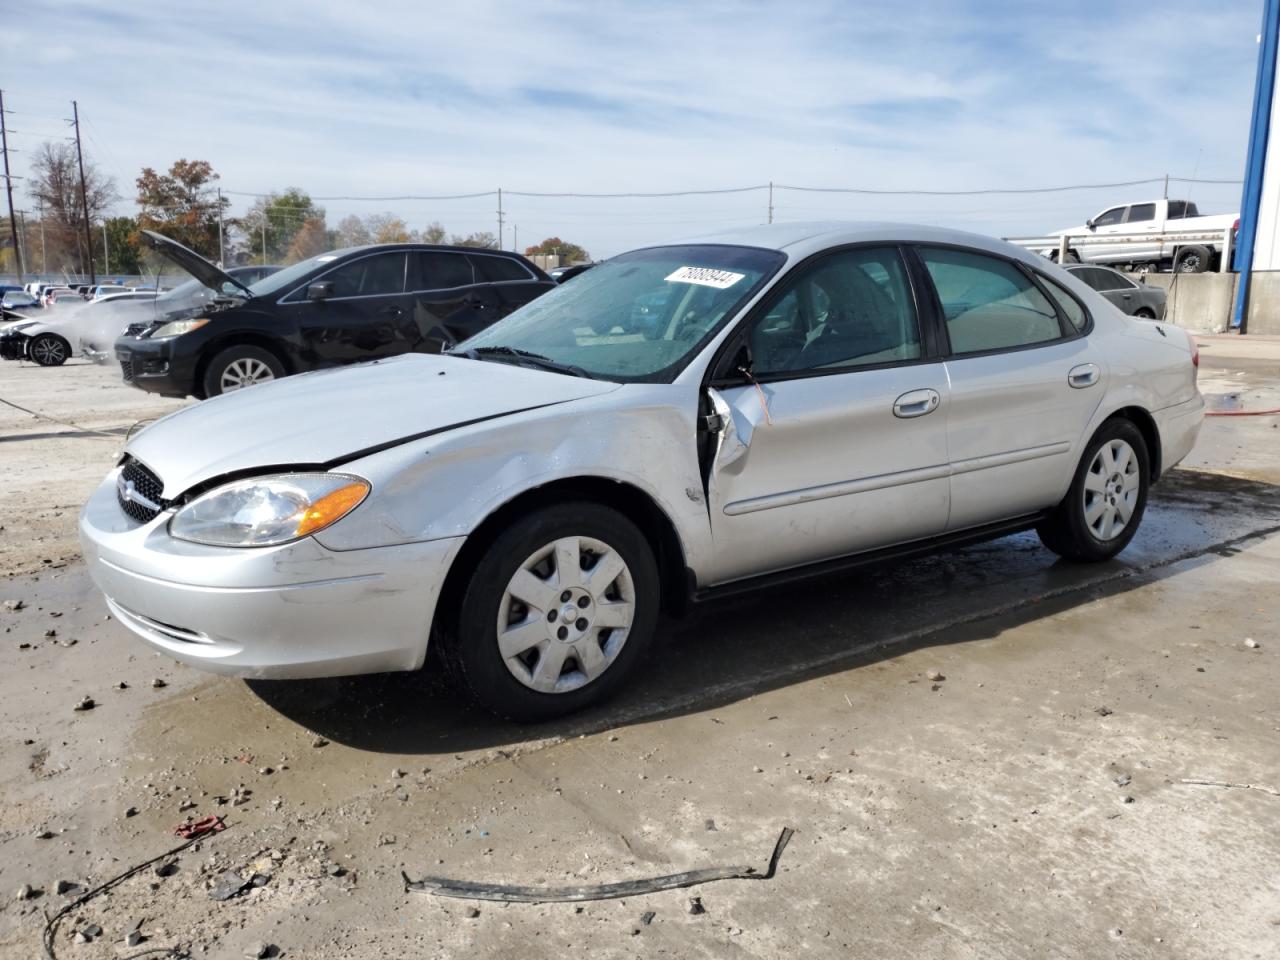
<svg viewBox="0 0 1280 960">
<path fill-rule="evenodd" d="M 1050 236 L 1069 237 L 1068 261 L 1199 274 L 1217 268 L 1224 234 L 1231 230 L 1234 236 L 1239 224 L 1238 214 L 1201 216 L 1189 200 L 1146 200 L 1107 207 L 1083 227 Z M 1108 237 L 1115 239 L 1108 242 Z M 1057 247 L 1041 252 L 1057 260 Z"/>
</svg>

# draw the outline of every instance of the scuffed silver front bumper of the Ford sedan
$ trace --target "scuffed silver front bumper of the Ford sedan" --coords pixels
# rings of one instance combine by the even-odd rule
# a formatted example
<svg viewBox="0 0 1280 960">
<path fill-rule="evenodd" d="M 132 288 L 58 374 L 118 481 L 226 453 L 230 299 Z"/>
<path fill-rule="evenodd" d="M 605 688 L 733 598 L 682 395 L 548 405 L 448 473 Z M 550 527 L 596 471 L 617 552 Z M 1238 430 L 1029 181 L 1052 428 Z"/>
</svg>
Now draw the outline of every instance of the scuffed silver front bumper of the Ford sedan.
<svg viewBox="0 0 1280 960">
<path fill-rule="evenodd" d="M 84 506 L 81 544 L 111 613 L 150 646 L 204 671 L 333 677 L 417 669 L 465 538 L 329 550 L 204 547 L 136 524 L 113 471 Z"/>
</svg>

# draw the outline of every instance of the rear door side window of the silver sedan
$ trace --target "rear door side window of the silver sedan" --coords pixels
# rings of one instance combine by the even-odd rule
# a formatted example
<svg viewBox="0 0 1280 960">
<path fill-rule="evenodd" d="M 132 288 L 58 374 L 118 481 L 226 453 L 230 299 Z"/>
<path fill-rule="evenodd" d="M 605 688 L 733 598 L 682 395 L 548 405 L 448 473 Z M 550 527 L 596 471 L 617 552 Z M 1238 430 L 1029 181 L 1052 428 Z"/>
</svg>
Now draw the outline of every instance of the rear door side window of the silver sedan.
<svg viewBox="0 0 1280 960">
<path fill-rule="evenodd" d="M 955 353 L 1047 343 L 1062 335 L 1053 305 L 1006 260 L 965 250 L 922 247 Z"/>
</svg>

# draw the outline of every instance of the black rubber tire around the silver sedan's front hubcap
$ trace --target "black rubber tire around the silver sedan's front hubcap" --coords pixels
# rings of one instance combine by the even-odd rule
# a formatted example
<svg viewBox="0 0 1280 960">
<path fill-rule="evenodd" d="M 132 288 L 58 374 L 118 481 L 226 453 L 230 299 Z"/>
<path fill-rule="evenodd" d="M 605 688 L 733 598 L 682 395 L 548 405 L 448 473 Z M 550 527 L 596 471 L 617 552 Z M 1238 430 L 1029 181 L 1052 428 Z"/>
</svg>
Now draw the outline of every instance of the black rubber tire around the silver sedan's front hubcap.
<svg viewBox="0 0 1280 960">
<path fill-rule="evenodd" d="M 634 617 L 621 649 L 599 676 L 572 690 L 541 692 L 508 668 L 498 649 L 498 616 L 508 585 L 525 559 L 557 540 L 575 536 L 607 544 L 626 563 L 634 590 Z M 562 503 L 525 515 L 494 539 L 476 563 L 456 609 L 442 611 L 436 641 L 449 675 L 477 704 L 512 721 L 552 719 L 600 703 L 626 682 L 653 640 L 659 596 L 653 549 L 630 520 L 598 503 Z M 556 613 L 554 605 L 550 613 Z M 541 614 L 527 609 L 524 616 L 532 625 Z M 589 636 L 590 631 L 582 640 Z M 595 631 L 594 636 L 603 636 L 607 643 L 609 635 Z M 538 660 L 525 664 L 530 673 L 540 659 L 539 654 Z M 575 663 L 570 653 L 564 672 L 557 676 L 572 680 Z"/>
</svg>

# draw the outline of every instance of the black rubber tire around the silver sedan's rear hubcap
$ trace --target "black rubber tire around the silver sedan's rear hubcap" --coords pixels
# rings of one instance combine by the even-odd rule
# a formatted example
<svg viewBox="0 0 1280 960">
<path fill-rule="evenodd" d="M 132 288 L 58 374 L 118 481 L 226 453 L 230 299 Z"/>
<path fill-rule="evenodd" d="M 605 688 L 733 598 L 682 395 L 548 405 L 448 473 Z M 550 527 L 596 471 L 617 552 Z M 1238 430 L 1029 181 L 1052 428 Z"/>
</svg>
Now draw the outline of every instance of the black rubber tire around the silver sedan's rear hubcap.
<svg viewBox="0 0 1280 960">
<path fill-rule="evenodd" d="M 1085 481 L 1089 480 L 1091 468 L 1098 451 L 1112 440 L 1123 440 L 1133 449 L 1138 470 L 1138 490 L 1133 512 L 1124 529 L 1116 536 L 1101 539 L 1091 527 L 1085 517 Z M 1098 476 L 1093 474 L 1093 476 Z M 1106 480 L 1106 477 L 1103 477 Z M 1151 456 L 1147 451 L 1147 442 L 1142 438 L 1142 431 L 1134 426 L 1133 421 L 1123 417 L 1107 420 L 1098 431 L 1093 434 L 1080 463 L 1075 468 L 1071 488 L 1066 497 L 1043 521 L 1036 532 L 1041 543 L 1057 556 L 1083 563 L 1098 563 L 1115 557 L 1129 545 L 1133 535 L 1142 524 L 1142 515 L 1147 508 L 1147 493 L 1151 489 Z M 1097 494 L 1094 494 L 1097 495 Z"/>
</svg>

